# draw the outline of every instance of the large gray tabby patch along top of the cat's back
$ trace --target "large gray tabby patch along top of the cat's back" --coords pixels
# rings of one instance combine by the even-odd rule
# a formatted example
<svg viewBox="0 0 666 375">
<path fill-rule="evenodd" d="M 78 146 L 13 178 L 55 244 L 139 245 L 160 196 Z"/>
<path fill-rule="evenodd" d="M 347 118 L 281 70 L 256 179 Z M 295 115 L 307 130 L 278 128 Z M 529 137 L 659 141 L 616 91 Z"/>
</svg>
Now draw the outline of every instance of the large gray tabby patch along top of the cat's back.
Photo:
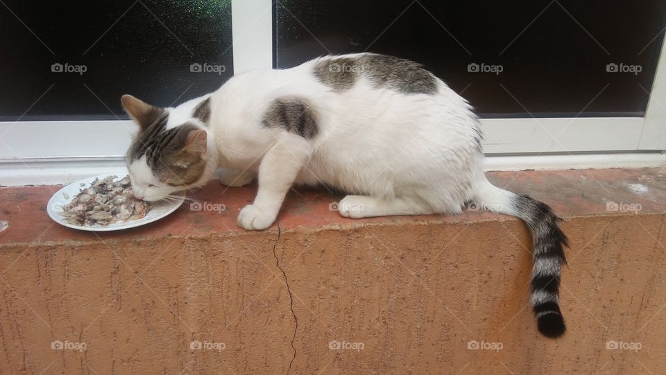
<svg viewBox="0 0 666 375">
<path fill-rule="evenodd" d="M 325 58 L 314 67 L 314 75 L 334 90 L 350 89 L 359 76 L 375 88 L 389 87 L 403 94 L 435 94 L 437 79 L 420 64 L 394 56 L 369 53 L 357 58 Z"/>
</svg>

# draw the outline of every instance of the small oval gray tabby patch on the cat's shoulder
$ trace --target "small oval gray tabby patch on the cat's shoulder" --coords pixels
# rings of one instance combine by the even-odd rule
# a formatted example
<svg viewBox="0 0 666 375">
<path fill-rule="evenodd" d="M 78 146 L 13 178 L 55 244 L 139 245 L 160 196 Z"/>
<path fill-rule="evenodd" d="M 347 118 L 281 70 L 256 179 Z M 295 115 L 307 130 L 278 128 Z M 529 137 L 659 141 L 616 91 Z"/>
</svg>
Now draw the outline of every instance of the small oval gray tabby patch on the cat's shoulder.
<svg viewBox="0 0 666 375">
<path fill-rule="evenodd" d="M 305 139 L 310 139 L 319 131 L 316 113 L 302 98 L 275 99 L 264 114 L 263 123 L 268 128 L 283 128 Z"/>
</svg>

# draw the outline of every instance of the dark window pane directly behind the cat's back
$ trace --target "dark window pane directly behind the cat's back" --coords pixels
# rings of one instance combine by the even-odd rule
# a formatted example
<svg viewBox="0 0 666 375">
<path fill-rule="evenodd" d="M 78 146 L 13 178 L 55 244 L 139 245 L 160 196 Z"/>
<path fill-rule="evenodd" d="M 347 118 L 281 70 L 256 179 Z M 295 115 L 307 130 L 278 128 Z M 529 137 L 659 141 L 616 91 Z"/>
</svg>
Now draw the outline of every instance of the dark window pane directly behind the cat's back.
<svg viewBox="0 0 666 375">
<path fill-rule="evenodd" d="M 281 0 L 275 66 L 386 53 L 421 62 L 484 117 L 642 116 L 665 12 L 663 0 Z"/>
</svg>

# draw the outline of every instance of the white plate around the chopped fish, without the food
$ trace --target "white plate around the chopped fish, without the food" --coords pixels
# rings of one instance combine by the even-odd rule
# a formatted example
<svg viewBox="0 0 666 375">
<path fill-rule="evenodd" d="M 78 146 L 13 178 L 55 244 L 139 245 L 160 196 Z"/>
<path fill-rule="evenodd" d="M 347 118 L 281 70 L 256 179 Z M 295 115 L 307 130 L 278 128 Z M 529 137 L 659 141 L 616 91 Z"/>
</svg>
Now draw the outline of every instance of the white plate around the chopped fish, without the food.
<svg viewBox="0 0 666 375">
<path fill-rule="evenodd" d="M 79 193 L 80 189 L 89 187 L 90 184 L 92 184 L 92 182 L 96 178 L 102 180 L 104 177 L 107 177 L 108 175 L 109 174 L 107 173 L 105 175 L 84 178 L 83 180 L 78 180 L 77 182 L 69 184 L 64 188 L 58 190 L 58 193 L 54 194 L 49 200 L 49 205 L 46 206 L 46 212 L 49 213 L 49 216 L 51 216 L 51 218 L 55 220 L 56 223 L 60 225 L 65 225 L 65 227 L 87 230 L 92 232 L 109 232 L 114 230 L 139 227 L 140 225 L 153 223 L 153 221 L 160 220 L 161 218 L 164 218 L 164 216 L 169 215 L 169 213 L 176 211 L 176 209 L 180 207 L 180 204 L 182 204 L 182 202 L 185 201 L 185 193 L 182 193 L 182 197 L 180 198 L 180 200 L 169 200 L 169 201 L 162 200 L 159 202 L 151 202 L 153 208 L 151 209 L 151 211 L 148 211 L 146 216 L 144 216 L 143 218 L 137 220 L 119 221 L 116 223 L 111 223 L 106 226 L 94 225 L 92 227 L 85 227 L 83 225 L 75 225 L 67 223 L 67 221 L 65 221 L 65 217 L 60 215 L 60 213 L 62 213 L 62 207 L 66 207 L 67 204 L 69 204 L 69 202 L 71 202 L 71 200 L 74 199 L 74 196 Z M 123 178 L 125 177 L 125 175 L 126 173 L 117 176 L 118 178 Z M 85 185 L 80 186 L 81 184 Z"/>
</svg>

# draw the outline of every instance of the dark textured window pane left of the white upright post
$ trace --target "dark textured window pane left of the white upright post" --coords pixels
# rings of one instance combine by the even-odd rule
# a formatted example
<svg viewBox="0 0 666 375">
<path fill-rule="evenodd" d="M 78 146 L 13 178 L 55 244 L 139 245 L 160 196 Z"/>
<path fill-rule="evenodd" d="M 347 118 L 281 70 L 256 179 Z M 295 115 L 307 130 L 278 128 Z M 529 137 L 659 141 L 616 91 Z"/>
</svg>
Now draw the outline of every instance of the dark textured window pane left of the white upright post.
<svg viewBox="0 0 666 375">
<path fill-rule="evenodd" d="M 4 3 L 3 121 L 116 119 L 122 94 L 168 106 L 233 73 L 229 0 Z"/>
</svg>

